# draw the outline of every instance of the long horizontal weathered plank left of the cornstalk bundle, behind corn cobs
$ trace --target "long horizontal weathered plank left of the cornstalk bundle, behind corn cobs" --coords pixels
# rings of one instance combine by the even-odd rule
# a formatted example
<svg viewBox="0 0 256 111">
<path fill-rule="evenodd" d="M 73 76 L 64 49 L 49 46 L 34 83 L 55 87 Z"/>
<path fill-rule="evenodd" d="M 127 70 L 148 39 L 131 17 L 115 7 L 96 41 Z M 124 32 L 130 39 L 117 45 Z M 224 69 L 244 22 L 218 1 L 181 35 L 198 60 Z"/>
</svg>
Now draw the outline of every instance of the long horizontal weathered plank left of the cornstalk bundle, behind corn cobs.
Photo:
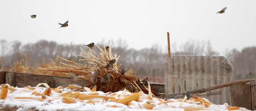
<svg viewBox="0 0 256 111">
<path fill-rule="evenodd" d="M 54 87 L 57 88 L 58 86 L 62 87 L 68 87 L 70 81 L 72 81 L 71 78 L 65 78 L 65 77 L 54 77 L 54 76 L 46 76 L 46 75 L 33 75 L 33 74 L 20 74 L 15 73 L 15 86 L 22 88 L 25 86 L 37 86 L 39 83 L 46 83 L 46 79 L 48 77 L 52 77 L 54 82 Z M 86 81 L 84 79 L 78 79 L 76 83 L 77 85 L 84 86 L 88 84 L 89 81 Z"/>
</svg>

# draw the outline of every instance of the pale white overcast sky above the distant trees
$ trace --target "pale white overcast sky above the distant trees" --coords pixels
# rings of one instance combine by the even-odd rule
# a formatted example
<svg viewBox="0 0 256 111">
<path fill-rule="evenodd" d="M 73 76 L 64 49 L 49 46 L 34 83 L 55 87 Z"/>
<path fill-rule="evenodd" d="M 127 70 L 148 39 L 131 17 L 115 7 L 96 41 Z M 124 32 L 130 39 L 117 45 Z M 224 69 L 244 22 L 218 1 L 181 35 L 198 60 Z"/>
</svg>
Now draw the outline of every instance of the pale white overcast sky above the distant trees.
<svg viewBox="0 0 256 111">
<path fill-rule="evenodd" d="M 23 45 L 40 39 L 97 44 L 122 38 L 128 48 L 159 44 L 167 52 L 170 32 L 178 48 L 189 39 L 210 40 L 223 54 L 226 48 L 256 46 L 255 6 L 256 0 L 1 0 L 0 37 Z M 225 13 L 216 14 L 224 7 Z M 59 28 L 67 20 L 69 26 Z"/>
</svg>

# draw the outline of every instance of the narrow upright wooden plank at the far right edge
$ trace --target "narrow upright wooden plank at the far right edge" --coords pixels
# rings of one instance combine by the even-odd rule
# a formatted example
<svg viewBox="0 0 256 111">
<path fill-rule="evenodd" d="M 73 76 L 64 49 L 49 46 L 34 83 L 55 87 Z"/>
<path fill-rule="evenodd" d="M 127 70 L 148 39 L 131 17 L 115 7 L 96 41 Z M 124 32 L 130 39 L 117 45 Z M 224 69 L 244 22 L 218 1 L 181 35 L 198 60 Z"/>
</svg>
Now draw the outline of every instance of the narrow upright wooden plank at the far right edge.
<svg viewBox="0 0 256 111">
<path fill-rule="evenodd" d="M 252 109 L 251 110 L 256 110 L 256 80 L 251 81 L 251 99 L 252 99 Z"/>
</svg>

